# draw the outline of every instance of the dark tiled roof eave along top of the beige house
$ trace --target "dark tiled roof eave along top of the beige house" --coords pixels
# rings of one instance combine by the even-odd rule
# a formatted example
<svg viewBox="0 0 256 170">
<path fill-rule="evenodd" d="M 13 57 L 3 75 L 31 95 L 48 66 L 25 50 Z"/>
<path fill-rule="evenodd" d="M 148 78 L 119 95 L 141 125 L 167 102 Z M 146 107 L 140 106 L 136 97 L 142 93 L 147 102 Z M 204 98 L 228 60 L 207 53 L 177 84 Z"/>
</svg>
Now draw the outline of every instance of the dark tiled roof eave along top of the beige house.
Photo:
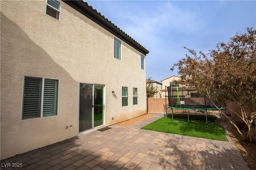
<svg viewBox="0 0 256 170">
<path fill-rule="evenodd" d="M 92 6 L 88 5 L 87 2 L 82 0 L 64 0 L 66 4 L 76 9 L 78 12 L 83 14 L 84 16 L 90 18 L 124 42 L 128 43 L 136 50 L 140 51 L 142 54 L 146 55 L 149 51 L 140 45 L 140 43 L 136 42 L 133 38 L 131 38 L 128 34 L 126 34 L 123 30 L 118 28 L 115 24 L 109 21 L 105 16 L 101 15 L 100 12 L 93 9 Z"/>
</svg>

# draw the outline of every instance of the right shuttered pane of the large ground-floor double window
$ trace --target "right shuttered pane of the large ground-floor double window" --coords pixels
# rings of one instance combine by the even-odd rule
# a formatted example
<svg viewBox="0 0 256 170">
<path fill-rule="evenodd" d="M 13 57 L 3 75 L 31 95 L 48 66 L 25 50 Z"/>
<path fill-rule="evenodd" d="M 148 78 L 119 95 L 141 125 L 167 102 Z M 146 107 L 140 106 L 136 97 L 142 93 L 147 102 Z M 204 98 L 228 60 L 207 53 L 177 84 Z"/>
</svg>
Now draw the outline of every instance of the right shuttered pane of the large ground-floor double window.
<svg viewBox="0 0 256 170">
<path fill-rule="evenodd" d="M 57 115 L 57 91 L 57 80 L 44 80 L 43 117 Z"/>
</svg>

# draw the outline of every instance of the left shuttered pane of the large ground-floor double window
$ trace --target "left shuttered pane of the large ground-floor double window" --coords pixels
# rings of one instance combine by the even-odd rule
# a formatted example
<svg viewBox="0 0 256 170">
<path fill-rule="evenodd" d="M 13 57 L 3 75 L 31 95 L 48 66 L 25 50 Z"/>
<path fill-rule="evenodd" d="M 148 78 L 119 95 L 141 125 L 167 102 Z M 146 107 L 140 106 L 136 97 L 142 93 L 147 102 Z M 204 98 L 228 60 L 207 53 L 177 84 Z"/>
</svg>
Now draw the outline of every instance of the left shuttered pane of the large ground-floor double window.
<svg viewBox="0 0 256 170">
<path fill-rule="evenodd" d="M 40 117 L 42 79 L 25 77 L 22 119 Z"/>
</svg>

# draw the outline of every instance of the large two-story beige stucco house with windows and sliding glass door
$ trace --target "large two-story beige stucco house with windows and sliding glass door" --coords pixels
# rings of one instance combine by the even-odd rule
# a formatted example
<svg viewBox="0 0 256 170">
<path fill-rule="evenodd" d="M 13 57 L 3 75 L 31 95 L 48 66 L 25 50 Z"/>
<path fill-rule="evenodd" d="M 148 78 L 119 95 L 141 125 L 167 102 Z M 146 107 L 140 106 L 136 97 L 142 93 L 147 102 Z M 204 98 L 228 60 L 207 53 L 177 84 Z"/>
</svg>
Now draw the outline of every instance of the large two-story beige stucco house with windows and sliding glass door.
<svg viewBox="0 0 256 170">
<path fill-rule="evenodd" d="M 1 160 L 146 114 L 149 51 L 86 2 L 0 6 Z"/>
</svg>

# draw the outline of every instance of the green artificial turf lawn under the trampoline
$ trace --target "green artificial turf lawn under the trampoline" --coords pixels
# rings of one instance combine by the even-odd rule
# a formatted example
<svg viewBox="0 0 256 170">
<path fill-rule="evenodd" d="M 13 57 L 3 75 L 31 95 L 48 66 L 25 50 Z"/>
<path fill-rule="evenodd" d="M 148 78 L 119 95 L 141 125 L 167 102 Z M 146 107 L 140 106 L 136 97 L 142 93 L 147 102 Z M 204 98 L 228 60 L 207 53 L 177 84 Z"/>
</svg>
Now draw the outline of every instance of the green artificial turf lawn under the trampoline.
<svg viewBox="0 0 256 170">
<path fill-rule="evenodd" d="M 175 121 L 188 122 L 188 115 L 173 115 Z M 214 123 L 217 119 L 214 115 L 208 115 L 208 124 Z M 172 121 L 172 115 L 163 117 L 142 127 L 142 129 L 172 134 L 181 134 L 198 138 L 228 141 L 225 130 L 221 125 L 207 125 L 205 115 L 189 115 L 189 123 Z"/>
</svg>

